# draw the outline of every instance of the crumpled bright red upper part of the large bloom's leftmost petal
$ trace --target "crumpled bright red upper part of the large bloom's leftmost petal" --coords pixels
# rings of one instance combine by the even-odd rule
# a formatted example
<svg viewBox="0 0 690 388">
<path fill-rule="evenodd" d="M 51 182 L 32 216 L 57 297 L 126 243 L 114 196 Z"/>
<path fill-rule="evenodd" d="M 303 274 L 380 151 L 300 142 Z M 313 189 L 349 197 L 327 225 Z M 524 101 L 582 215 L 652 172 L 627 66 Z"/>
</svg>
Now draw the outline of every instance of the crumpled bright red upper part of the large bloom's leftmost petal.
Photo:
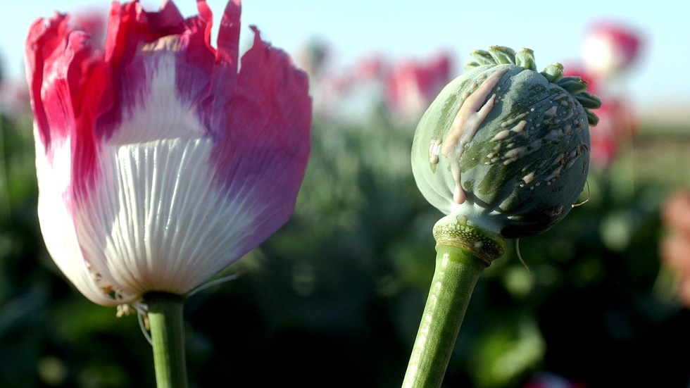
<svg viewBox="0 0 690 388">
<path fill-rule="evenodd" d="M 37 127 L 50 162 L 56 144 L 70 143 L 73 163 L 70 194 L 87 190 L 95 179 L 94 121 L 109 91 L 110 77 L 89 35 L 70 30 L 67 17 L 37 20 L 27 39 L 27 80 Z"/>
</svg>

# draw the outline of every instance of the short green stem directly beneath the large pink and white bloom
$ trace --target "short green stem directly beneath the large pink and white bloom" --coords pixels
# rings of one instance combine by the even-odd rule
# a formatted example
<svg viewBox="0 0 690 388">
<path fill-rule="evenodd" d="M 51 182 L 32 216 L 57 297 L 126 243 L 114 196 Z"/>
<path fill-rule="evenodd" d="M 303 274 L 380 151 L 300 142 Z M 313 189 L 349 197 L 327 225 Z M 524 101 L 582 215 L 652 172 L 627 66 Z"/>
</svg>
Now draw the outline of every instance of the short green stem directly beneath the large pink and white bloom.
<svg viewBox="0 0 690 388">
<path fill-rule="evenodd" d="M 165 292 L 144 295 L 153 342 L 153 364 L 158 388 L 187 388 L 184 361 L 184 296 Z"/>
</svg>

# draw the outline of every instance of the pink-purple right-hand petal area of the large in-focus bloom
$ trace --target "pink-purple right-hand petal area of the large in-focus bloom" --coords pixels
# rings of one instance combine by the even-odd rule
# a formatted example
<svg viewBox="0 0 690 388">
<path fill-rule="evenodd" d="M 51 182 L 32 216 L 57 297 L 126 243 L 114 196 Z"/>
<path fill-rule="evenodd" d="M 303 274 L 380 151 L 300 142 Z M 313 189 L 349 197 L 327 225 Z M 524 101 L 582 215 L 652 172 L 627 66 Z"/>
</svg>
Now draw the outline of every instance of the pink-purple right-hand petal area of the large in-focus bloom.
<svg viewBox="0 0 690 388">
<path fill-rule="evenodd" d="M 227 133 L 213 150 L 218 184 L 242 199 L 256 232 L 242 241 L 245 253 L 284 225 L 310 150 L 311 97 L 306 74 L 283 51 L 255 32 L 244 54 L 237 89 L 225 106 Z M 218 121 L 218 120 L 212 120 Z"/>
</svg>

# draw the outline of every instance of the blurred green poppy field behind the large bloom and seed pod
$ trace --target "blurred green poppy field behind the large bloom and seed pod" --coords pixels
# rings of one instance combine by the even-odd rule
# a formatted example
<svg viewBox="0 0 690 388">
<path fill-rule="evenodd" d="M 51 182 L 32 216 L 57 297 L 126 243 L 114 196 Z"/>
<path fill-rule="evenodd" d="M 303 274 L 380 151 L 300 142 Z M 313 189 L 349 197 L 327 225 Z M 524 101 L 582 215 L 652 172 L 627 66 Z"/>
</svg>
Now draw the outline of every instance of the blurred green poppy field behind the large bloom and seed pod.
<svg viewBox="0 0 690 388">
<path fill-rule="evenodd" d="M 220 274 L 237 280 L 187 301 L 191 387 L 402 381 L 441 218 L 415 186 L 410 146 L 451 77 L 449 58 L 370 61 L 334 82 L 318 70 L 321 50 L 311 46 L 304 65 L 313 151 L 294 217 Z M 0 387 L 153 387 L 137 317 L 87 301 L 46 253 L 31 117 L 18 106 L 0 127 Z M 524 264 L 509 240 L 484 271 L 444 386 L 688 386 L 690 311 L 675 301 L 658 244 L 660 205 L 690 187 L 690 126 L 642 123 L 615 149 L 592 166 L 588 201 L 520 239 Z"/>
</svg>

